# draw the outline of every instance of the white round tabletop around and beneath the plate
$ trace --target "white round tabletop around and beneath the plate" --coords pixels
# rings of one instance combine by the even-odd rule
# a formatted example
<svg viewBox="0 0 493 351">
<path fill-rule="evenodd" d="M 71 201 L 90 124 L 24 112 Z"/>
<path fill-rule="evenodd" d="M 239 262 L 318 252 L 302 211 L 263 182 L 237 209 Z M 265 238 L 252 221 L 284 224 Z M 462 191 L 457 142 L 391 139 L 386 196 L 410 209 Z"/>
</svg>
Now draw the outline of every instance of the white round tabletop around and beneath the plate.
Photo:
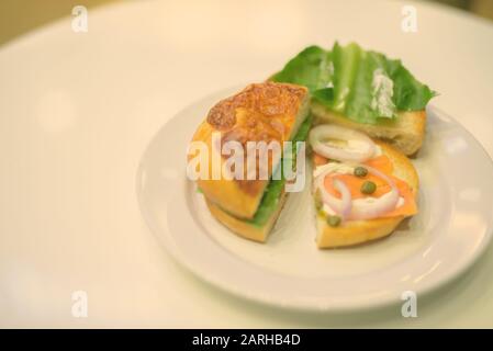
<svg viewBox="0 0 493 351">
<path fill-rule="evenodd" d="M 406 1 L 408 3 L 408 1 Z M 281 310 L 187 272 L 147 229 L 135 173 L 156 131 L 193 101 L 259 81 L 335 39 L 403 58 L 433 101 L 493 156 L 493 25 L 397 1 L 135 1 L 67 16 L 0 47 L 1 327 L 493 327 L 493 248 L 453 283 L 401 306 Z M 72 292 L 88 294 L 75 318 Z"/>
</svg>

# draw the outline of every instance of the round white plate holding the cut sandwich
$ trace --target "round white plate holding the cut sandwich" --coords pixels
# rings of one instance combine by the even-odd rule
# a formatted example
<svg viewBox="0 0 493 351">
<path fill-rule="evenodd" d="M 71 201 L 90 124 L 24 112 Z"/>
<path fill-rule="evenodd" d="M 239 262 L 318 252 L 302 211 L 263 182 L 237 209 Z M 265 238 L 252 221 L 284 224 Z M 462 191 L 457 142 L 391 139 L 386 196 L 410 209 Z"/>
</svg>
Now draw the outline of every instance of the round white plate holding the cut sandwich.
<svg viewBox="0 0 493 351">
<path fill-rule="evenodd" d="M 428 109 L 427 137 L 413 160 L 419 214 L 389 238 L 318 250 L 310 186 L 292 193 L 267 244 L 242 239 L 209 214 L 187 180 L 186 149 L 209 109 L 238 89 L 197 102 L 169 121 L 145 151 L 137 195 L 150 229 L 199 278 L 246 298 L 283 307 L 340 310 L 418 296 L 456 278 L 488 246 L 493 163 L 446 114 Z"/>
</svg>

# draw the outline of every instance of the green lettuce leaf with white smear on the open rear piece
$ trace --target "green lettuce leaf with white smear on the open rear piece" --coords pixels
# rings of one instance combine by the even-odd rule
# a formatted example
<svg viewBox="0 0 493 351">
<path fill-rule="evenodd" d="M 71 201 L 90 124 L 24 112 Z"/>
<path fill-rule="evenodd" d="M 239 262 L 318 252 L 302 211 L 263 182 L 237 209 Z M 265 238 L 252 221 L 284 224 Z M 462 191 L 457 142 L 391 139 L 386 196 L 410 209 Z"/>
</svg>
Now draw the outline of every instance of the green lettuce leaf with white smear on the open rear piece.
<svg viewBox="0 0 493 351">
<path fill-rule="evenodd" d="M 401 60 L 363 50 L 355 43 L 335 43 L 332 50 L 310 46 L 271 79 L 305 86 L 312 99 L 368 124 L 393 120 L 397 111 L 423 110 L 436 95 Z"/>
</svg>

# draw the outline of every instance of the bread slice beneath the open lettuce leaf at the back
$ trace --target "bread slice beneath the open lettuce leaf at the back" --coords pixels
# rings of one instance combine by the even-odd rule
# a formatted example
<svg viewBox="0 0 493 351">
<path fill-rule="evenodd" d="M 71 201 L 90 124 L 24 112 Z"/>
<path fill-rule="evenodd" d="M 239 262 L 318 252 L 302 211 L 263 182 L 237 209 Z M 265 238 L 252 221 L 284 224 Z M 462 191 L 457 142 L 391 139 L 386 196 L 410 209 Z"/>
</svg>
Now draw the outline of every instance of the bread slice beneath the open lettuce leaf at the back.
<svg viewBox="0 0 493 351">
<path fill-rule="evenodd" d="M 333 123 L 351 129 L 360 131 L 372 138 L 382 139 L 401 152 L 411 156 L 422 146 L 425 136 L 426 112 L 423 111 L 401 111 L 397 118 L 382 121 L 379 124 L 365 124 L 351 121 L 337 114 L 316 100 L 312 100 L 312 114 L 314 124 Z"/>
</svg>

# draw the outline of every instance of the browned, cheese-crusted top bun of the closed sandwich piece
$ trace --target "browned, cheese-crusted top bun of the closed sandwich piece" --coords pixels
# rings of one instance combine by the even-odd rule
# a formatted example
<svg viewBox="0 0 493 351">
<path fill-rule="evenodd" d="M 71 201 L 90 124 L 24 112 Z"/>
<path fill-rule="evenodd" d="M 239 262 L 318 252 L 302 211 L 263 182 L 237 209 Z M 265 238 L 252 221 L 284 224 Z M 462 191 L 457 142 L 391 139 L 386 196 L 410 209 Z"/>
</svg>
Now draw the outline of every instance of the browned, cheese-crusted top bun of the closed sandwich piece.
<svg viewBox="0 0 493 351">
<path fill-rule="evenodd" d="M 213 165 L 212 155 L 219 155 L 219 147 L 212 146 L 214 132 L 221 133 L 223 143 L 238 141 L 244 150 L 247 141 L 278 141 L 282 146 L 307 115 L 309 100 L 307 89 L 301 86 L 276 82 L 250 84 L 213 106 L 193 135 L 192 141 L 203 141 L 206 145 L 210 171 Z M 188 155 L 188 160 L 195 156 Z M 223 167 L 226 159 L 221 156 L 217 159 Z M 244 180 L 221 177 L 199 179 L 198 185 L 209 202 L 235 217 L 253 218 L 278 161 L 279 159 L 269 157 L 268 179 L 265 180 L 258 177 L 256 180 L 247 180 L 246 177 Z M 246 172 L 247 167 L 244 168 Z"/>
</svg>

